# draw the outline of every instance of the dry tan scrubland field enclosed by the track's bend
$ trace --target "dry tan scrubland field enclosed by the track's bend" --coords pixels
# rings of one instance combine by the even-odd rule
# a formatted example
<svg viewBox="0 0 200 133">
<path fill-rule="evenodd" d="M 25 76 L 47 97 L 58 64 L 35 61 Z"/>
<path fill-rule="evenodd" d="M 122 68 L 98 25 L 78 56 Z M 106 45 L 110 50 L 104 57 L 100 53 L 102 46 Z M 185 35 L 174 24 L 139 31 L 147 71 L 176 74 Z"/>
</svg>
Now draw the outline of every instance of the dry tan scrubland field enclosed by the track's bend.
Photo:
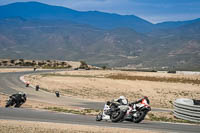
<svg viewBox="0 0 200 133">
<path fill-rule="evenodd" d="M 200 75 L 91 70 L 28 75 L 25 79 L 46 91 L 96 101 L 120 95 L 134 101 L 145 95 L 153 107 L 171 108 L 177 98 L 200 99 Z"/>
</svg>

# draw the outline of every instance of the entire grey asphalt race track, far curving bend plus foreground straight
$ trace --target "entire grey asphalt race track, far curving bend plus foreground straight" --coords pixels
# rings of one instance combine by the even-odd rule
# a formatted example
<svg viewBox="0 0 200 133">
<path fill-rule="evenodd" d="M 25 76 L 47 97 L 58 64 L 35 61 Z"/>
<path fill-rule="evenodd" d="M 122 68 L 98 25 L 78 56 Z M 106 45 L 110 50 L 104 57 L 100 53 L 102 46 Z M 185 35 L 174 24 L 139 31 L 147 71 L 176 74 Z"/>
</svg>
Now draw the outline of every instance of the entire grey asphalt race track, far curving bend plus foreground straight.
<svg viewBox="0 0 200 133">
<path fill-rule="evenodd" d="M 51 71 L 46 71 L 51 72 Z M 34 88 L 28 87 L 19 80 L 19 77 L 25 74 L 33 72 L 16 72 L 16 73 L 0 73 L 0 92 L 6 94 L 13 94 L 18 91 L 24 91 L 28 94 L 28 98 L 44 101 L 49 103 L 56 103 L 60 105 L 80 106 L 93 109 L 101 109 L 103 103 L 92 102 L 72 97 L 60 97 L 56 98 L 54 94 L 38 91 Z M 41 73 L 41 72 L 34 72 Z M 156 111 L 168 111 L 158 110 Z M 132 129 L 145 129 L 145 130 L 161 130 L 166 132 L 180 132 L 180 133 L 199 133 L 199 125 L 189 124 L 172 124 L 143 121 L 140 124 L 134 124 L 131 122 L 111 123 L 111 122 L 96 122 L 93 116 L 72 115 L 55 113 L 50 111 L 37 111 L 31 109 L 14 109 L 14 108 L 0 108 L 0 119 L 8 120 L 28 120 L 28 121 L 41 121 L 41 122 L 55 122 L 55 123 L 68 123 L 68 124 L 81 124 L 81 125 L 95 125 L 95 126 L 107 126 L 107 127 L 121 127 Z"/>
</svg>

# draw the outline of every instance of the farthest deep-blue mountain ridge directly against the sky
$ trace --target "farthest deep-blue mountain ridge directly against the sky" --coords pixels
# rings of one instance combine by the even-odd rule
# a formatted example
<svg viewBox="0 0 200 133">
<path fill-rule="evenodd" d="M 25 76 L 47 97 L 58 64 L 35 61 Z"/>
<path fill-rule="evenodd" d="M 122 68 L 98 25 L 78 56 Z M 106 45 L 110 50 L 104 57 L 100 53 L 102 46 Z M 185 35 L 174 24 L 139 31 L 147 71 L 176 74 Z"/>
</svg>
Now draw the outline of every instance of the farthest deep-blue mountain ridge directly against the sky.
<svg viewBox="0 0 200 133">
<path fill-rule="evenodd" d="M 20 16 L 25 19 L 68 20 L 102 29 L 129 27 L 138 32 L 147 32 L 154 27 L 152 23 L 134 15 L 122 16 L 98 11 L 79 12 L 38 2 L 19 2 L 0 6 L 0 12 L 0 18 Z"/>
</svg>

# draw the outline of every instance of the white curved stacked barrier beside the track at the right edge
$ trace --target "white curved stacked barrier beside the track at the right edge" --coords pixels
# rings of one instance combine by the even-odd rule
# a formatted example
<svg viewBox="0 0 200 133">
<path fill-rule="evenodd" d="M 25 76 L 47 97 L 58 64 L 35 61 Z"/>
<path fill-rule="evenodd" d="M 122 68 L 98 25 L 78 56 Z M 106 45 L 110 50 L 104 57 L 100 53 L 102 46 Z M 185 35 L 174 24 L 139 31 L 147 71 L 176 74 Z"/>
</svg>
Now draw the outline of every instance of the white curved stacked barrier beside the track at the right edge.
<svg viewBox="0 0 200 133">
<path fill-rule="evenodd" d="M 174 116 L 183 120 L 200 122 L 200 106 L 194 105 L 191 99 L 177 99 L 174 102 Z"/>
</svg>

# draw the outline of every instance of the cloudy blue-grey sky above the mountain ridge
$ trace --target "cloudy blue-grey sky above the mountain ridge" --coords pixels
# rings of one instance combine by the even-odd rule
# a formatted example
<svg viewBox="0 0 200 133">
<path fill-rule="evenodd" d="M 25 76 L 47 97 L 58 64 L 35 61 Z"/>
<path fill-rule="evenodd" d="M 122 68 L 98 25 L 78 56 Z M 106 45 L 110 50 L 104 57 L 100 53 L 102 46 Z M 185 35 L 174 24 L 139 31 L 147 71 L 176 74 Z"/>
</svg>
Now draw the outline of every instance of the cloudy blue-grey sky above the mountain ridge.
<svg viewBox="0 0 200 133">
<path fill-rule="evenodd" d="M 38 1 L 79 11 L 133 14 L 153 23 L 200 18 L 200 0 L 0 0 L 0 5 L 19 1 Z"/>
</svg>

